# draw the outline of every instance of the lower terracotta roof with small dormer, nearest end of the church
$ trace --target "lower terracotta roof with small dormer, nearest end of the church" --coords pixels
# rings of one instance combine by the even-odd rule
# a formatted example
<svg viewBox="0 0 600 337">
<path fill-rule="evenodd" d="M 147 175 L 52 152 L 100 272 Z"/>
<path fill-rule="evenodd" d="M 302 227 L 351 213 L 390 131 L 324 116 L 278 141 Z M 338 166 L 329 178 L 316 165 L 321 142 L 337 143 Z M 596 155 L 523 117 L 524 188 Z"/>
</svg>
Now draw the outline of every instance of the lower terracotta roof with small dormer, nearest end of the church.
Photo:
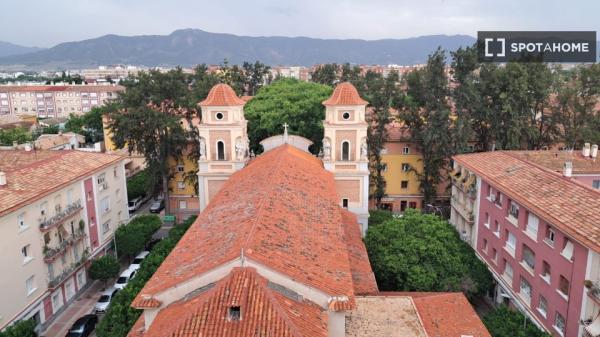
<svg viewBox="0 0 600 337">
<path fill-rule="evenodd" d="M 229 310 L 240 309 L 231 320 Z M 137 324 L 136 324 L 137 325 Z M 130 336 L 136 336 L 132 329 Z M 268 286 L 253 268 L 234 268 L 212 287 L 191 293 L 157 315 L 144 337 L 326 337 L 327 314 Z"/>
</svg>

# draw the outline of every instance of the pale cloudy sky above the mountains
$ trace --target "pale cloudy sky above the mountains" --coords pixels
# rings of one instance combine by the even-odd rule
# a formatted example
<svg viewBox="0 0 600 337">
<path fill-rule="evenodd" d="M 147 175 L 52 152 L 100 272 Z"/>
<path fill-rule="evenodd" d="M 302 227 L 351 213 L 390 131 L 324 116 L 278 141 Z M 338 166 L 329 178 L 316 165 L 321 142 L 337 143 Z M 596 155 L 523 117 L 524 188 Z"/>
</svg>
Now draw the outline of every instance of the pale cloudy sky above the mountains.
<svg viewBox="0 0 600 337">
<path fill-rule="evenodd" d="M 0 40 L 26 46 L 181 28 L 250 36 L 403 38 L 478 30 L 600 31 L 599 0 L 0 0 Z"/>
</svg>

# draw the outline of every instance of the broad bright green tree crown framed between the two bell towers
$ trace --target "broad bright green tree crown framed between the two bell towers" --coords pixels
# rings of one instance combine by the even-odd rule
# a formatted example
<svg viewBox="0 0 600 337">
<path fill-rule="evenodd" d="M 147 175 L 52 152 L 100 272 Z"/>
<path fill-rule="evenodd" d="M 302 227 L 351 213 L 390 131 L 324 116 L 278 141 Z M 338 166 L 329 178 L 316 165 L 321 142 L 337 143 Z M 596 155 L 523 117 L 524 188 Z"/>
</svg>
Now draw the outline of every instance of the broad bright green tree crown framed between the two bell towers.
<svg viewBox="0 0 600 337">
<path fill-rule="evenodd" d="M 317 154 L 321 149 L 325 119 L 321 102 L 331 91 L 331 87 L 293 78 L 282 78 L 261 88 L 244 107 L 251 148 L 260 152 L 259 142 L 281 134 L 282 125 L 287 123 L 291 134 L 313 141 L 311 151 Z"/>
</svg>

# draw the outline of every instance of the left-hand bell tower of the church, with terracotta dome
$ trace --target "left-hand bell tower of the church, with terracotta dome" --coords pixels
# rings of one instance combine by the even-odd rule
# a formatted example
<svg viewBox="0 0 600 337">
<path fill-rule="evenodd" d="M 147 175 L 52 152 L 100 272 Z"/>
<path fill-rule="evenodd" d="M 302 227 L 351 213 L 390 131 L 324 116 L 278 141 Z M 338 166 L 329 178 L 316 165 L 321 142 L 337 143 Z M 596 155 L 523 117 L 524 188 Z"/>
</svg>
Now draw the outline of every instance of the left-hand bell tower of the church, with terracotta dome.
<svg viewBox="0 0 600 337">
<path fill-rule="evenodd" d="M 223 183 L 246 164 L 248 122 L 244 117 L 245 104 L 227 84 L 212 87 L 206 99 L 198 104 L 202 110 L 202 121 L 198 125 L 200 211 L 206 208 Z"/>
</svg>

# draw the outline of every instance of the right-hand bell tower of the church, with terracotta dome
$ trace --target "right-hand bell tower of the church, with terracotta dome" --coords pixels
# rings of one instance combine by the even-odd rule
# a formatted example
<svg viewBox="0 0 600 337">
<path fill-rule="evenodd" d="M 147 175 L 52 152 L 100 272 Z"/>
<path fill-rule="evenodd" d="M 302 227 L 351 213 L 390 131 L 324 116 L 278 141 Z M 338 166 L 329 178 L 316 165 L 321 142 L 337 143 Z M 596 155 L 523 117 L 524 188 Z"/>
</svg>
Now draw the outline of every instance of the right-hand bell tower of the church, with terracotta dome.
<svg viewBox="0 0 600 337">
<path fill-rule="evenodd" d="M 323 163 L 335 176 L 340 206 L 356 214 L 363 236 L 369 219 L 367 104 L 349 82 L 338 84 L 323 102 Z"/>
</svg>

